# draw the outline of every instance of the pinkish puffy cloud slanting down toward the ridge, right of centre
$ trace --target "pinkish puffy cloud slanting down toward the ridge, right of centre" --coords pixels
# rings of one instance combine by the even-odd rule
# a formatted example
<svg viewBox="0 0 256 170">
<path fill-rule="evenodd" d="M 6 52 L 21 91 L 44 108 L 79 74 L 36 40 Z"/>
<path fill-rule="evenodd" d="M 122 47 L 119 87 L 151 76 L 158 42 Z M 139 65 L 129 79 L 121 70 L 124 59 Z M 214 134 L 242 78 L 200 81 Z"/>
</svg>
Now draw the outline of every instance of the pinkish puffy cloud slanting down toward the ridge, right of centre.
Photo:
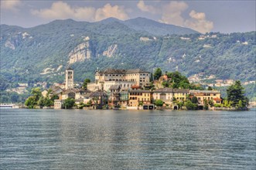
<svg viewBox="0 0 256 170">
<path fill-rule="evenodd" d="M 142 12 L 157 13 L 161 15 L 159 22 L 166 24 L 172 24 L 176 26 L 184 26 L 194 29 L 198 32 L 210 32 L 213 29 L 213 22 L 206 19 L 206 15 L 203 12 L 196 12 L 192 10 L 189 12 L 187 19 L 183 18 L 183 12 L 189 7 L 186 2 L 169 2 L 167 5 L 160 7 L 154 7 L 151 5 L 145 5 L 144 1 L 140 1 L 137 7 Z"/>
</svg>

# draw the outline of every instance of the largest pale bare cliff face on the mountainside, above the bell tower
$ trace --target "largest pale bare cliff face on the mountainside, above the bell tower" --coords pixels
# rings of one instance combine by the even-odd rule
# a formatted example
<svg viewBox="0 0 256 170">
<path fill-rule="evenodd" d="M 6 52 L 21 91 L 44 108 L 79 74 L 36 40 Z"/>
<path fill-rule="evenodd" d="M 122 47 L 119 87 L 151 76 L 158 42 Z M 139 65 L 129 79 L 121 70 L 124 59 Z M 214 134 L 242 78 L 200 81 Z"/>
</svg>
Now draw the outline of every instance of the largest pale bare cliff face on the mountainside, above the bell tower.
<svg viewBox="0 0 256 170">
<path fill-rule="evenodd" d="M 69 63 L 83 62 L 85 59 L 90 59 L 91 51 L 89 49 L 89 37 L 84 39 L 85 42 L 80 43 L 69 53 Z"/>
</svg>

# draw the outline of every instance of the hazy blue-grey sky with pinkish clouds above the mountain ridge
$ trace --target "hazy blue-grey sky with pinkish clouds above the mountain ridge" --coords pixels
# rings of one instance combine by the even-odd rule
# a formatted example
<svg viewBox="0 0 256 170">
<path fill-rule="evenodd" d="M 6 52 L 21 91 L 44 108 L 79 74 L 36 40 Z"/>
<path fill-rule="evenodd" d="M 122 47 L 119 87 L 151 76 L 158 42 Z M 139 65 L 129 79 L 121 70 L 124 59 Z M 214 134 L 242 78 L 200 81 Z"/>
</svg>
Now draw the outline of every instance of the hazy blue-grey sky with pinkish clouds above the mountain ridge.
<svg viewBox="0 0 256 170">
<path fill-rule="evenodd" d="M 25 28 L 56 19 L 97 22 L 109 17 L 121 20 L 144 17 L 202 33 L 250 32 L 256 26 L 256 0 L 0 1 L 1 24 Z"/>
</svg>

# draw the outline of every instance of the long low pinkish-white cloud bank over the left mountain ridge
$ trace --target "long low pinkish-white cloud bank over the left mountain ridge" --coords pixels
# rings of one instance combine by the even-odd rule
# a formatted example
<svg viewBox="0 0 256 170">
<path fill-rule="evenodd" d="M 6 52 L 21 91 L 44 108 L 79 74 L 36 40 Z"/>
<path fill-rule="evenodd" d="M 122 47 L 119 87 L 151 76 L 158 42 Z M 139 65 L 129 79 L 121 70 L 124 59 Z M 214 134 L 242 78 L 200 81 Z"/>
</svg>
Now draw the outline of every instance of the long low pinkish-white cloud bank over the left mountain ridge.
<svg viewBox="0 0 256 170">
<path fill-rule="evenodd" d="M 71 7 L 66 2 L 53 2 L 50 8 L 32 10 L 33 15 L 43 19 L 78 19 L 89 22 L 99 21 L 109 17 L 128 19 L 123 7 L 118 5 L 104 5 L 103 8 L 94 7 Z"/>
</svg>

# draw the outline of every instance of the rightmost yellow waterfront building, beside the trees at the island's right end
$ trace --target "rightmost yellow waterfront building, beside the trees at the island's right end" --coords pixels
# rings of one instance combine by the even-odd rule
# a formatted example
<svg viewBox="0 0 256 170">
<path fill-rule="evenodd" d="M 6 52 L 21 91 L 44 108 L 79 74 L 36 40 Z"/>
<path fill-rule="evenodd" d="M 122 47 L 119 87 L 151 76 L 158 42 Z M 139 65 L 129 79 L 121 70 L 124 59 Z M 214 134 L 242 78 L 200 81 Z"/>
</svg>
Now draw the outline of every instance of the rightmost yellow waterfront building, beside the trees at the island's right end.
<svg viewBox="0 0 256 170">
<path fill-rule="evenodd" d="M 191 97 L 196 97 L 199 105 L 203 100 L 213 100 L 213 104 L 221 104 L 220 91 L 217 90 L 190 90 Z"/>
</svg>

